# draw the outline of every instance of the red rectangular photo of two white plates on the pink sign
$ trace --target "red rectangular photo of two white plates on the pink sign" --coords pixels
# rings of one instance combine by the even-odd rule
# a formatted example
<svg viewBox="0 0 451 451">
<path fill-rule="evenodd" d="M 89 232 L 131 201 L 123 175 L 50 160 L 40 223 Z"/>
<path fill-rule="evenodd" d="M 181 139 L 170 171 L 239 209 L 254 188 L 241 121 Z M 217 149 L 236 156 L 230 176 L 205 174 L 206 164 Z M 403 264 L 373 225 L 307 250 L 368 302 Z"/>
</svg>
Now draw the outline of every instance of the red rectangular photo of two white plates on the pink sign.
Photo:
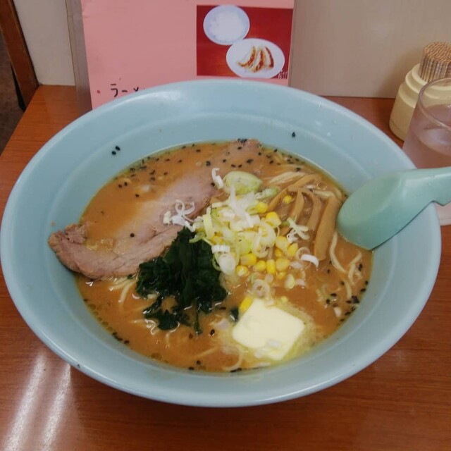
<svg viewBox="0 0 451 451">
<path fill-rule="evenodd" d="M 197 6 L 197 75 L 288 78 L 292 8 Z"/>
</svg>

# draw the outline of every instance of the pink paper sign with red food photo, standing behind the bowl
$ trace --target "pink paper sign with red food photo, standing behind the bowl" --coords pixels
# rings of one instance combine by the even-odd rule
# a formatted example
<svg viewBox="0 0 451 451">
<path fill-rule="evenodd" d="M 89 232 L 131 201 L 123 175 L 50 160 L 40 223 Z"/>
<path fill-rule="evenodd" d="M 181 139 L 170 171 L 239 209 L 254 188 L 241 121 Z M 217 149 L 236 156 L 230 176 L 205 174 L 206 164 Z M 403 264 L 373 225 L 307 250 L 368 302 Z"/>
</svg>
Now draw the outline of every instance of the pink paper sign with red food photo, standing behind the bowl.
<svg viewBox="0 0 451 451">
<path fill-rule="evenodd" d="M 81 0 L 92 107 L 170 82 L 288 84 L 294 0 Z"/>
</svg>

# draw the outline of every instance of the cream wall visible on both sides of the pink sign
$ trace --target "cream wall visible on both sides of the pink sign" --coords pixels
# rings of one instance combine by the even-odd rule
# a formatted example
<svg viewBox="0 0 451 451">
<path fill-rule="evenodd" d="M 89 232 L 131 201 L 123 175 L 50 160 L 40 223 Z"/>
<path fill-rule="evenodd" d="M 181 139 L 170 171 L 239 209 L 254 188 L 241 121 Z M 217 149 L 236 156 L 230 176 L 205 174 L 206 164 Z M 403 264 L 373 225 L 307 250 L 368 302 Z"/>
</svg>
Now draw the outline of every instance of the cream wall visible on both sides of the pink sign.
<svg viewBox="0 0 451 451">
<path fill-rule="evenodd" d="M 291 84 L 316 94 L 395 97 L 421 49 L 451 41 L 451 0 L 296 1 Z M 38 81 L 73 85 L 65 0 L 15 4 Z"/>
</svg>

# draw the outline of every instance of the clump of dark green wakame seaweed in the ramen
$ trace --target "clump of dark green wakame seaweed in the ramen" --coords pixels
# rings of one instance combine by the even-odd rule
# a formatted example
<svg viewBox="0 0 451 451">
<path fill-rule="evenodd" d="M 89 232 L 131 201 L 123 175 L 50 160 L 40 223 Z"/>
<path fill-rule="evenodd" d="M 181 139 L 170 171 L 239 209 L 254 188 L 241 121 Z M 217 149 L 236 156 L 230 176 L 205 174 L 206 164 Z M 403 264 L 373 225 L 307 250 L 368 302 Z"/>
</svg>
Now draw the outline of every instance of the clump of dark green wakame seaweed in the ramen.
<svg viewBox="0 0 451 451">
<path fill-rule="evenodd" d="M 136 291 L 142 297 L 156 293 L 156 301 L 144 309 L 146 319 L 156 319 L 162 330 L 173 329 L 180 323 L 190 325 L 185 310 L 194 306 L 194 330 L 201 333 L 199 313 L 209 313 L 215 302 L 221 302 L 227 291 L 219 282 L 221 274 L 213 266 L 211 247 L 203 240 L 190 242 L 194 233 L 183 228 L 163 257 L 140 264 Z M 169 311 L 162 307 L 166 297 L 175 298 Z"/>
</svg>

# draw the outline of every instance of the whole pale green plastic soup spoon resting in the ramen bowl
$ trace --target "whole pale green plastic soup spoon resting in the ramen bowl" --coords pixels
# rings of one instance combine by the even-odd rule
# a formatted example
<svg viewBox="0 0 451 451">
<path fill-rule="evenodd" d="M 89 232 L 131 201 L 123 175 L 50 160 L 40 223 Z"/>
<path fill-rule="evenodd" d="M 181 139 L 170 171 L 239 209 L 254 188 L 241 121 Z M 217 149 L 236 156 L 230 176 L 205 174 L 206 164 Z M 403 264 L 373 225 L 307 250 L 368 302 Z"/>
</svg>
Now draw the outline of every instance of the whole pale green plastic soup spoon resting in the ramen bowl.
<svg viewBox="0 0 451 451">
<path fill-rule="evenodd" d="M 347 241 L 373 249 L 431 202 L 451 202 L 451 167 L 383 175 L 348 197 L 338 213 L 338 232 Z"/>
</svg>

